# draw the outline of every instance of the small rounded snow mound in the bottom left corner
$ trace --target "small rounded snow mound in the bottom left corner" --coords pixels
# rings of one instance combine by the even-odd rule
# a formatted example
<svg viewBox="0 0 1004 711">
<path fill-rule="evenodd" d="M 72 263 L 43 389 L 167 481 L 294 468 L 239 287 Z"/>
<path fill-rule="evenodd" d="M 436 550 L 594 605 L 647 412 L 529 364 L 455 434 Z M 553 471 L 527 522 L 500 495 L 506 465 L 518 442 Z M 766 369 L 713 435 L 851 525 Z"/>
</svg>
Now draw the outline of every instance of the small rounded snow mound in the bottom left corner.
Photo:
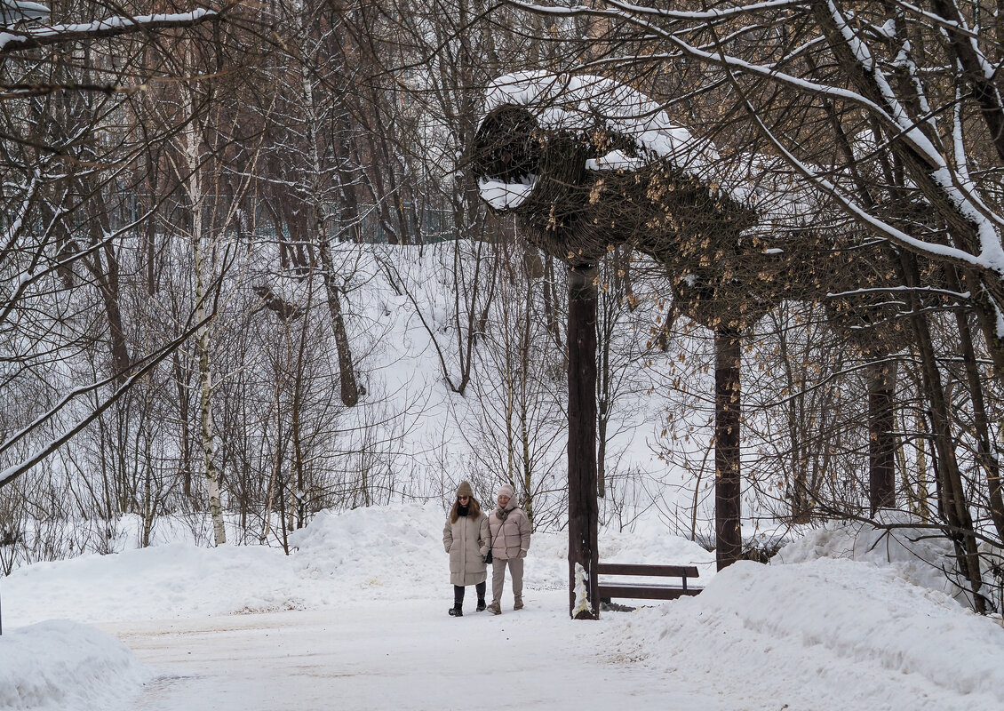
<svg viewBox="0 0 1004 711">
<path fill-rule="evenodd" d="M 0 708 L 89 711 L 134 693 L 149 672 L 126 645 L 53 620 L 0 636 Z"/>
</svg>

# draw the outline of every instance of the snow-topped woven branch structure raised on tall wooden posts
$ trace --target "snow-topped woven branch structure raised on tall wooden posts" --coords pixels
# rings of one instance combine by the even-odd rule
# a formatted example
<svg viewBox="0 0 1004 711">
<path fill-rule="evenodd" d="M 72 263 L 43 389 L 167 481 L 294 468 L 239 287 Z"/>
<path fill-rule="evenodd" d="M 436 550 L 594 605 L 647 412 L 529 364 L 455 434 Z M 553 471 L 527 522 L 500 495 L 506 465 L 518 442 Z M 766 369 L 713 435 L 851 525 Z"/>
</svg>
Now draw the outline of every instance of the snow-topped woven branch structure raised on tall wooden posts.
<svg viewBox="0 0 1004 711">
<path fill-rule="evenodd" d="M 481 198 L 568 266 L 628 244 L 665 265 L 678 306 L 716 330 L 745 330 L 783 299 L 825 300 L 834 275 L 848 292 L 828 301 L 842 329 L 873 340 L 869 326 L 894 315 L 885 296 L 858 292 L 890 283 L 888 255 L 862 255 L 860 230 L 780 161 L 726 159 L 645 94 L 598 76 L 508 74 L 486 107 L 473 153 Z M 864 274 L 861 256 L 872 262 Z"/>
</svg>

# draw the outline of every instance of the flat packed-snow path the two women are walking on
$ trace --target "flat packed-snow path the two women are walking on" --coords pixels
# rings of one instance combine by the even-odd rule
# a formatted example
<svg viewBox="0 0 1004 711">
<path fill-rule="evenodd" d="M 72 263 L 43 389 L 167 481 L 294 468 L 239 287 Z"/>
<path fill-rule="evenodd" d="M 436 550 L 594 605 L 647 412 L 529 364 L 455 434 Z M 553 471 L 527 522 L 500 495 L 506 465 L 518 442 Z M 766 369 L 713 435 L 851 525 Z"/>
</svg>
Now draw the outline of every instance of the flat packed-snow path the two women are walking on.
<svg viewBox="0 0 1004 711">
<path fill-rule="evenodd" d="M 449 601 L 405 601 L 100 627 L 158 675 L 138 711 L 738 708 L 596 650 L 607 623 L 569 621 L 566 596 L 529 590 L 499 617 L 469 600 L 459 620 Z"/>
</svg>

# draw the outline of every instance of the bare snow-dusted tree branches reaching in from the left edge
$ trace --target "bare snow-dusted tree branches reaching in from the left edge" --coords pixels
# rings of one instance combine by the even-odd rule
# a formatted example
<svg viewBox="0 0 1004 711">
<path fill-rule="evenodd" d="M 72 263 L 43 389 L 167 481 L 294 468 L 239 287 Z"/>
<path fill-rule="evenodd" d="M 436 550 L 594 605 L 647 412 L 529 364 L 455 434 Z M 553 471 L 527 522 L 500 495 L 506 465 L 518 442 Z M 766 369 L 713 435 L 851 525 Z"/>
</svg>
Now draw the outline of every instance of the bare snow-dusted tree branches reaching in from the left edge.
<svg viewBox="0 0 1004 711">
<path fill-rule="evenodd" d="M 83 18 L 92 22 L 61 23 L 56 20 L 62 18 L 51 17 L 45 26 L 18 28 L 0 52 L 0 151 L 8 186 L 0 267 L 12 284 L 0 305 L 0 327 L 12 346 L 4 359 L 4 381 L 8 387 L 33 381 L 44 394 L 32 401 L 35 412 L 25 408 L 10 423 L 0 445 L 6 460 L 0 486 L 112 407 L 183 340 L 169 338 L 142 353 L 129 353 L 124 343 L 117 243 L 150 215 L 112 223 L 108 198 L 143 150 L 136 134 L 116 123 L 131 118 L 127 99 L 142 77 L 164 68 L 144 67 L 142 48 L 162 33 L 197 31 L 197 25 L 218 23 L 223 15 L 203 9 L 122 17 L 113 10 L 96 3 Z M 109 61 L 111 55 L 122 61 Z M 73 56 L 84 59 L 87 68 L 67 61 Z M 111 352 L 109 368 L 91 381 L 67 380 L 60 365 L 88 338 L 91 311 L 76 299 L 60 298 L 82 278 L 92 280 L 100 294 Z"/>
</svg>

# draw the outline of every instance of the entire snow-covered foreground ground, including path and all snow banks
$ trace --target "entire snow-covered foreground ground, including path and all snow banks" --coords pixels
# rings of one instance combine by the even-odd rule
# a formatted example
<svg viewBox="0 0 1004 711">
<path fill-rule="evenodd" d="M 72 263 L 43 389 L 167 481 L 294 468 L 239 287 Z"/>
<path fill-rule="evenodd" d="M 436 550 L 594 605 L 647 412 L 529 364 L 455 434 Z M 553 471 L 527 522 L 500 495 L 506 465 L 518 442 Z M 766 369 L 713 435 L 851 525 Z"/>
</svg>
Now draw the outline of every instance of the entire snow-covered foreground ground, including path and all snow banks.
<svg viewBox="0 0 1004 711">
<path fill-rule="evenodd" d="M 1004 709 L 999 621 L 853 529 L 719 574 L 655 522 L 604 531 L 603 559 L 695 562 L 707 588 L 586 623 L 567 619 L 560 534 L 533 541 L 526 610 L 475 614 L 470 590 L 448 617 L 444 518 L 356 509 L 317 516 L 289 556 L 171 543 L 16 570 L 0 708 Z"/>
</svg>

